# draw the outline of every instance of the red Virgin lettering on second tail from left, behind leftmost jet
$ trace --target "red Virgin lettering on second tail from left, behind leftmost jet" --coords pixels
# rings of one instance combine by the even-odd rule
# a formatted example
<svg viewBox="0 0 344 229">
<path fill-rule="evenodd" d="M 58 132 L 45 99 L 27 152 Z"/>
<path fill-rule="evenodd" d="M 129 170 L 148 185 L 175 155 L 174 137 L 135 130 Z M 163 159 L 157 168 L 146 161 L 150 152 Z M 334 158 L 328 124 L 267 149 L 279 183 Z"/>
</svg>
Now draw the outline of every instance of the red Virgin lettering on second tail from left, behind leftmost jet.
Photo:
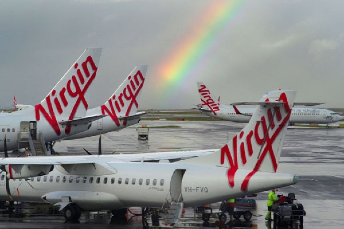
<svg viewBox="0 0 344 229">
<path fill-rule="evenodd" d="M 103 115 L 107 113 L 117 126 L 120 126 L 117 113 L 125 113 L 125 116 L 128 116 L 133 105 L 135 105 L 136 108 L 139 106 L 136 97 L 143 87 L 144 77 L 142 76 L 141 71 L 138 70 L 133 77 L 129 76 L 128 80 L 129 82 L 123 89 L 123 92 L 121 92 L 118 97 L 113 95 L 108 100 L 110 107 L 107 107 L 106 104 L 100 106 L 101 113 Z M 129 105 L 127 110 L 123 111 L 123 108 L 126 107 L 128 101 Z M 123 121 L 123 125 L 127 125 L 127 120 Z"/>
</svg>

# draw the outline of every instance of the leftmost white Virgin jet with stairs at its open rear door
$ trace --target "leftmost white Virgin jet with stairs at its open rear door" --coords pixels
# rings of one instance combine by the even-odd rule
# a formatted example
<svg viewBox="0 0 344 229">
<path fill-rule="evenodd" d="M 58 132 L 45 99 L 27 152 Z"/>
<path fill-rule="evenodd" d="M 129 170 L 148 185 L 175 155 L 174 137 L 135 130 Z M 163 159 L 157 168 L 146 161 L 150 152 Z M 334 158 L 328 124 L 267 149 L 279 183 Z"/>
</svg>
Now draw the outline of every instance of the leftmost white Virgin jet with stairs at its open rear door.
<svg viewBox="0 0 344 229">
<path fill-rule="evenodd" d="M 8 150 L 30 147 L 44 152 L 45 142 L 85 131 L 105 117 L 86 117 L 88 89 L 96 78 L 100 54 L 101 48 L 86 49 L 41 103 L 0 115 L 0 139 L 6 134 Z"/>
</svg>

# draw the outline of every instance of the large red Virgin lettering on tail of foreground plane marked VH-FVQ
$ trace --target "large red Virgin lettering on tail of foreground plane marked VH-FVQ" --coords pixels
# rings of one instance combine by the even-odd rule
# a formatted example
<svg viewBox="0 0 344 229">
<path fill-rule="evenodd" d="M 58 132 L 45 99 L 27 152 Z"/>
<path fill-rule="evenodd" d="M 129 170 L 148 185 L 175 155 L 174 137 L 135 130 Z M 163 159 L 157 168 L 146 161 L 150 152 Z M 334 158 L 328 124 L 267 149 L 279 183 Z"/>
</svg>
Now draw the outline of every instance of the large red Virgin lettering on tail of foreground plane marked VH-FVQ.
<svg viewBox="0 0 344 229">
<path fill-rule="evenodd" d="M 273 171 L 275 172 L 277 171 L 278 164 L 275 158 L 275 153 L 273 152 L 272 144 L 277 138 L 277 136 L 281 133 L 284 126 L 288 124 L 289 117 L 291 114 L 291 108 L 289 107 L 285 93 L 282 93 L 280 95 L 280 98 L 278 101 L 284 102 L 284 111 L 285 111 L 284 118 L 282 118 L 282 113 L 280 111 L 280 108 L 274 107 L 273 109 L 275 109 L 276 111 L 277 120 L 273 120 L 272 111 L 271 111 L 271 108 L 269 108 L 267 111 L 268 117 L 262 116 L 260 119 L 261 122 L 256 123 L 254 130 L 250 130 L 248 133 L 246 133 L 246 135 L 244 131 L 241 131 L 239 135 L 234 136 L 233 141 L 232 141 L 233 142 L 233 157 L 232 157 L 232 154 L 230 153 L 228 145 L 225 145 L 224 147 L 221 148 L 220 163 L 224 164 L 225 158 L 227 158 L 227 162 L 230 166 L 230 168 L 227 170 L 227 179 L 228 179 L 228 183 L 230 187 L 234 187 L 235 185 L 234 176 L 235 176 L 236 171 L 238 170 L 238 150 L 240 151 L 240 158 L 243 165 L 247 163 L 247 157 L 252 156 L 252 154 L 254 153 L 252 149 L 252 137 L 254 137 L 258 146 L 265 145 L 265 147 L 262 149 L 254 169 L 245 177 L 245 179 L 241 183 L 241 191 L 243 192 L 247 191 L 249 180 L 257 171 L 259 171 L 261 163 L 263 162 L 265 157 L 267 157 L 268 155 L 270 156 L 270 159 L 272 162 Z M 275 124 L 275 121 L 277 121 L 278 125 Z M 269 123 L 270 123 L 270 127 L 269 127 Z M 271 136 L 269 135 L 268 127 L 271 130 L 274 130 Z M 261 136 L 259 135 L 260 133 L 259 130 L 262 130 Z M 265 141 L 264 141 L 264 138 L 265 138 Z M 238 148 L 238 140 L 241 141 L 239 148 Z M 246 142 L 247 147 L 245 147 L 245 142 Z"/>
</svg>

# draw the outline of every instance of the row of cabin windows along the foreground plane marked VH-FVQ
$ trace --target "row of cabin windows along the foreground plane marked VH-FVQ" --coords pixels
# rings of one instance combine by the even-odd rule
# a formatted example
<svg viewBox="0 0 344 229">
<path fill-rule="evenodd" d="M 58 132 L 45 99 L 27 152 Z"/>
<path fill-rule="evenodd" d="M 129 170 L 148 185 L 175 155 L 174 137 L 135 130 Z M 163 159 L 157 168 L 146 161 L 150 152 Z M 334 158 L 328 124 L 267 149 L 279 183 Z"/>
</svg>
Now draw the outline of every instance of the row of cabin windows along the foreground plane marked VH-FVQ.
<svg viewBox="0 0 344 229">
<path fill-rule="evenodd" d="M 2 175 L 2 176 L 1 176 L 1 181 L 3 181 L 4 178 L 5 178 L 5 175 Z M 43 182 L 46 182 L 47 179 L 48 179 L 48 176 L 44 176 L 44 177 L 43 177 Z M 14 179 L 14 180 L 15 180 L 15 179 Z M 19 181 L 21 181 L 21 180 L 22 180 L 22 179 L 19 179 Z M 32 177 L 32 178 L 31 178 L 31 181 L 34 181 L 34 180 L 35 180 L 35 178 Z M 72 183 L 73 180 L 74 180 L 74 176 L 70 176 L 68 181 L 69 181 L 69 183 Z M 75 178 L 75 182 L 76 182 L 76 183 L 80 183 L 81 180 L 82 180 L 82 183 L 86 183 L 87 177 L 84 176 L 84 177 L 81 179 L 80 176 L 77 176 L 77 177 Z M 129 178 L 126 178 L 126 179 L 124 180 L 124 183 L 125 183 L 125 184 L 129 184 L 129 180 L 130 180 Z M 41 181 L 41 176 L 37 176 L 37 182 L 40 182 L 40 181 Z M 50 182 L 53 182 L 53 181 L 54 181 L 54 176 L 50 176 L 49 181 L 50 181 Z M 62 182 L 65 183 L 66 181 L 67 181 L 67 177 L 66 177 L 66 176 L 63 176 Z M 60 182 L 60 176 L 56 176 L 56 182 L 57 182 L 57 183 Z M 108 182 L 108 178 L 106 177 L 106 178 L 103 179 L 103 183 L 106 184 L 107 182 Z M 157 185 L 157 182 L 158 182 L 157 179 L 153 179 L 152 184 L 155 186 L 155 185 Z M 164 179 L 161 179 L 161 180 L 160 180 L 160 186 L 163 186 L 163 185 L 164 185 L 164 182 L 165 182 L 165 180 L 164 180 Z M 89 183 L 90 183 L 90 184 L 93 183 L 93 177 L 92 177 L 92 176 L 89 178 Z M 97 183 L 97 184 L 100 183 L 100 177 L 97 177 L 96 183 Z M 111 183 L 111 184 L 114 184 L 114 183 L 115 183 L 115 178 L 111 178 L 110 183 Z M 122 178 L 118 178 L 117 183 L 118 183 L 118 184 L 122 184 Z M 131 184 L 132 184 L 132 185 L 135 185 L 135 184 L 136 184 L 136 178 L 131 179 Z M 138 184 L 139 184 L 139 185 L 142 185 L 142 184 L 143 184 L 143 179 L 142 179 L 142 178 L 139 179 Z M 150 184 L 150 179 L 146 179 L 145 184 L 146 184 L 146 185 L 149 185 L 149 184 Z"/>
</svg>

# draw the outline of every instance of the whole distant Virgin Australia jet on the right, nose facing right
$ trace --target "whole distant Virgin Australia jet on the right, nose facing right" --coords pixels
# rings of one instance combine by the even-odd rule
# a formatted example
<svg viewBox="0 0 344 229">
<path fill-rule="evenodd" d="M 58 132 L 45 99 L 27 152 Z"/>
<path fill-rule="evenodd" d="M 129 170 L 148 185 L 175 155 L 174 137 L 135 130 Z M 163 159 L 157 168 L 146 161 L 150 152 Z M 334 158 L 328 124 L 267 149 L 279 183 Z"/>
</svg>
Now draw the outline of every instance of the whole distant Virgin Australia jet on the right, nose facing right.
<svg viewBox="0 0 344 229">
<path fill-rule="evenodd" d="M 193 109 L 199 110 L 204 115 L 208 115 L 213 118 L 223 119 L 225 121 L 247 123 L 249 122 L 255 108 L 236 107 L 237 105 L 251 105 L 249 103 L 232 103 L 230 105 L 224 105 L 220 103 L 219 99 L 216 100 L 209 89 L 203 82 L 197 82 L 198 93 L 200 94 L 201 103 L 192 107 Z M 321 103 L 295 103 L 294 105 L 319 105 Z M 295 123 L 325 123 L 326 128 L 329 127 L 330 123 L 341 121 L 343 116 L 340 114 L 321 108 L 292 108 L 291 117 L 289 124 Z"/>
</svg>

